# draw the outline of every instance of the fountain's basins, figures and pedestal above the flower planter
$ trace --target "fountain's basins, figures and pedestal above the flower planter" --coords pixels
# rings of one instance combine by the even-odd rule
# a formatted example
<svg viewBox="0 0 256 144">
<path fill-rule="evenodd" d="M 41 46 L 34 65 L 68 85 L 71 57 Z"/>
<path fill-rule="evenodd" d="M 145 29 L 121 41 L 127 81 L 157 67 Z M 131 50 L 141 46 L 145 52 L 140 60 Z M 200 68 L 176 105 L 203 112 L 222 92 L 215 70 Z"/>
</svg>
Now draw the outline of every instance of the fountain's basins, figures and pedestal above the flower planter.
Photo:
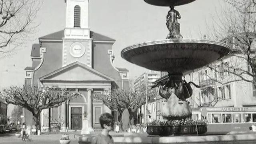
<svg viewBox="0 0 256 144">
<path fill-rule="evenodd" d="M 156 6 L 169 6 L 166 26 L 169 34 L 166 40 L 144 42 L 124 48 L 122 58 L 138 66 L 156 71 L 168 72 L 167 82 L 158 82 L 160 96 L 167 100 L 162 108 L 162 116 L 167 120 L 182 120 L 192 116 L 192 109 L 186 100 L 192 96 L 190 84 L 182 80 L 196 68 L 210 64 L 230 52 L 228 45 L 210 40 L 183 39 L 178 19 L 180 13 L 175 6 L 188 4 L 195 0 L 144 0 Z M 196 87 L 198 85 L 194 84 Z M 154 131 L 154 129 L 152 129 Z M 159 131 L 158 129 L 156 131 Z"/>
</svg>

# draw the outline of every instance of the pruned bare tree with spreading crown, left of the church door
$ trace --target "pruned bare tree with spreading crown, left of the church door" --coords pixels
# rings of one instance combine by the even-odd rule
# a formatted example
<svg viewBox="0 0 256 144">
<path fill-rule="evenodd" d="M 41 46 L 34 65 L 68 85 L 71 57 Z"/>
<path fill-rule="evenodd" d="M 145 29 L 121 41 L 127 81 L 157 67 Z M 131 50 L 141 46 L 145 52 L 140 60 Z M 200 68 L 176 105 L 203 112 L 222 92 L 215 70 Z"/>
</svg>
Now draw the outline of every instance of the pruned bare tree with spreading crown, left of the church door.
<svg viewBox="0 0 256 144">
<path fill-rule="evenodd" d="M 40 114 L 42 110 L 60 106 L 62 102 L 76 98 L 79 94 L 72 93 L 67 89 L 53 87 L 18 87 L 11 86 L 4 89 L 0 96 L 8 103 L 19 105 L 29 110 L 37 130 L 41 130 Z"/>
</svg>

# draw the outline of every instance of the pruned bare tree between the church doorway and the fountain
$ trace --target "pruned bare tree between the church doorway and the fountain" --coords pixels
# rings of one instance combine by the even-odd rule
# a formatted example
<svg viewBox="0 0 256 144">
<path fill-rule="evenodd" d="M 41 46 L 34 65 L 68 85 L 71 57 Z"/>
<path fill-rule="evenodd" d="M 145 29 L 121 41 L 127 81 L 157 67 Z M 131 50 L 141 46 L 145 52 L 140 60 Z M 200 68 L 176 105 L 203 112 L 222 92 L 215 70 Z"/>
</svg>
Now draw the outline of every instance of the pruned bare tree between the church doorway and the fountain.
<svg viewBox="0 0 256 144">
<path fill-rule="evenodd" d="M 110 110 L 118 111 L 120 114 L 118 116 L 119 121 L 122 120 L 122 113 L 127 109 L 130 114 L 130 124 L 133 125 L 138 108 L 146 104 L 146 94 L 148 96 L 148 101 L 150 101 L 154 100 L 157 92 L 156 90 L 136 92 L 131 89 L 114 89 L 111 91 L 105 91 L 102 94 L 94 94 L 93 98 L 96 100 L 102 100 Z"/>
</svg>

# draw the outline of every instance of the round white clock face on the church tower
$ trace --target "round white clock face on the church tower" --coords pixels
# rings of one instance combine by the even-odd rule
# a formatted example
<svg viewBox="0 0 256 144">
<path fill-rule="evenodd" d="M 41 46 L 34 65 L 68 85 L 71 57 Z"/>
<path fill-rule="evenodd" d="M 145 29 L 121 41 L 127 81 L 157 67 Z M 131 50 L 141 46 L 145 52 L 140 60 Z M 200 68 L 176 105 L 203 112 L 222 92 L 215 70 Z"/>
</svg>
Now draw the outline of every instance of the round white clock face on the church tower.
<svg viewBox="0 0 256 144">
<path fill-rule="evenodd" d="M 85 48 L 80 42 L 75 42 L 70 46 L 70 54 L 75 58 L 80 58 L 85 53 Z"/>
</svg>

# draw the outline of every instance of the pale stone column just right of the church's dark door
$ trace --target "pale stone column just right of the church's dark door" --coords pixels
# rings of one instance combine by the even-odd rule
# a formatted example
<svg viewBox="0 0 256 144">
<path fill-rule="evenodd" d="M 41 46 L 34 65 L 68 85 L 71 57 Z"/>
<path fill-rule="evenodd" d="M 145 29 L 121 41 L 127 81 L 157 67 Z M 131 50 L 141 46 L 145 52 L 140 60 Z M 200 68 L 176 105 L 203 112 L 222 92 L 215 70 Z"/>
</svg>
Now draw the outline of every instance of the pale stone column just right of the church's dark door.
<svg viewBox="0 0 256 144">
<path fill-rule="evenodd" d="M 88 120 L 88 131 L 92 132 L 92 90 L 87 89 L 87 120 Z"/>
</svg>

